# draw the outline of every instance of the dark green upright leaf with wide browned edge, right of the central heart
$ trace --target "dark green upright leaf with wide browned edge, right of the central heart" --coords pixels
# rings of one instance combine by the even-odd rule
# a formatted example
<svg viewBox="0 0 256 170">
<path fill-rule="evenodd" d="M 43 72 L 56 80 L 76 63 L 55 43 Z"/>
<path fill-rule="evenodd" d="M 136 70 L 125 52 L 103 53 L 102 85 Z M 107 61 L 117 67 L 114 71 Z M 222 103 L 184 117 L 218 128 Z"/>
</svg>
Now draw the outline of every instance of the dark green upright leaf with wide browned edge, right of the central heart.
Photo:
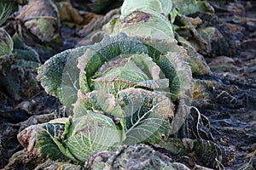
<svg viewBox="0 0 256 170">
<path fill-rule="evenodd" d="M 165 77 L 169 79 L 172 100 L 191 91 L 192 73 L 188 65 L 189 55 L 177 45 L 177 41 L 161 40 L 151 37 L 139 37 L 148 47 L 148 55 L 160 66 Z M 190 105 L 190 103 L 188 104 Z"/>
</svg>

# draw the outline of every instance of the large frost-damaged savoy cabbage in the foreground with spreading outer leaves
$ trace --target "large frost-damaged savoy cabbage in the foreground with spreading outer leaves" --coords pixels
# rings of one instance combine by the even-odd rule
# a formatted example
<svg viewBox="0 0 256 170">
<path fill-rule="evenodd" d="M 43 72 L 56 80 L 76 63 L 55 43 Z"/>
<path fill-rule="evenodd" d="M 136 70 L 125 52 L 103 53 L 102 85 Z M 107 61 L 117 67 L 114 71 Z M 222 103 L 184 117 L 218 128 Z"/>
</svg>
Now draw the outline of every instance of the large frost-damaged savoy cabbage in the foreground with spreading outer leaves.
<svg viewBox="0 0 256 170">
<path fill-rule="evenodd" d="M 189 112 L 191 71 L 183 53 L 175 41 L 120 33 L 56 54 L 38 69 L 38 80 L 73 107 L 73 117 L 45 124 L 44 136 L 51 124 L 64 124 L 63 133 L 50 138 L 79 162 L 96 150 L 167 139 Z"/>
</svg>

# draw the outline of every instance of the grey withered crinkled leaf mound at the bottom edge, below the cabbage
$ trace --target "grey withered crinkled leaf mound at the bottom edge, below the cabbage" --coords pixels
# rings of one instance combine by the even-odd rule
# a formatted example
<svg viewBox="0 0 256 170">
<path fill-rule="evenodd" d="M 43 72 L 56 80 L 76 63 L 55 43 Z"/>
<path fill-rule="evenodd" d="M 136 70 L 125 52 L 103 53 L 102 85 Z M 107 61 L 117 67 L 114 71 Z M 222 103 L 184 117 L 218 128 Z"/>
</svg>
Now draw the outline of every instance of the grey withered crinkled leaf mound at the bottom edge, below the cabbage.
<svg viewBox="0 0 256 170">
<path fill-rule="evenodd" d="M 96 161 L 96 163 L 98 162 Z M 168 156 L 145 144 L 134 144 L 121 148 L 118 153 L 108 159 L 104 169 L 119 169 L 118 167 L 123 169 L 189 170 L 189 167 L 184 164 L 172 162 Z"/>
</svg>

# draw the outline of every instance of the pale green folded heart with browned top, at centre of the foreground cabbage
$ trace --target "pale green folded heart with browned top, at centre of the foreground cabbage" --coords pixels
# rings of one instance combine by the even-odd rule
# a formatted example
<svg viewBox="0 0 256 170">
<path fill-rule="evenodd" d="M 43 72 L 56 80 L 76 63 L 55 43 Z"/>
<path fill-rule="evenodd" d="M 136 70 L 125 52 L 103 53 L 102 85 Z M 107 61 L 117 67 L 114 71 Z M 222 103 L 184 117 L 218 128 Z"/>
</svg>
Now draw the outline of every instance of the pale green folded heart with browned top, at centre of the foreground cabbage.
<svg viewBox="0 0 256 170">
<path fill-rule="evenodd" d="M 114 59 L 101 68 L 108 68 L 98 78 L 93 79 L 94 89 L 115 96 L 125 88 L 131 88 L 138 82 L 160 79 L 160 68 L 147 54 L 134 54 L 129 58 Z M 102 69 L 103 70 L 103 69 Z"/>
</svg>

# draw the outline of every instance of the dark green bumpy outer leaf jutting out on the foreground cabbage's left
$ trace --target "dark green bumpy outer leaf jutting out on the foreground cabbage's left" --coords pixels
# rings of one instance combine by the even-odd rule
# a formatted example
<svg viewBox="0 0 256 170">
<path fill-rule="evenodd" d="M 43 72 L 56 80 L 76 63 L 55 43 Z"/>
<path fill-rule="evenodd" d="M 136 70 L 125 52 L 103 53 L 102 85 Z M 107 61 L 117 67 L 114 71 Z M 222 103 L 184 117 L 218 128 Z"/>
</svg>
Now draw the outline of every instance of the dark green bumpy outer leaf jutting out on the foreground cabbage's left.
<svg viewBox="0 0 256 170">
<path fill-rule="evenodd" d="M 77 59 L 84 54 L 87 48 L 89 47 L 67 49 L 56 54 L 38 68 L 38 81 L 41 82 L 45 91 L 61 99 L 61 102 L 67 106 L 77 99 L 79 89 Z"/>
</svg>

